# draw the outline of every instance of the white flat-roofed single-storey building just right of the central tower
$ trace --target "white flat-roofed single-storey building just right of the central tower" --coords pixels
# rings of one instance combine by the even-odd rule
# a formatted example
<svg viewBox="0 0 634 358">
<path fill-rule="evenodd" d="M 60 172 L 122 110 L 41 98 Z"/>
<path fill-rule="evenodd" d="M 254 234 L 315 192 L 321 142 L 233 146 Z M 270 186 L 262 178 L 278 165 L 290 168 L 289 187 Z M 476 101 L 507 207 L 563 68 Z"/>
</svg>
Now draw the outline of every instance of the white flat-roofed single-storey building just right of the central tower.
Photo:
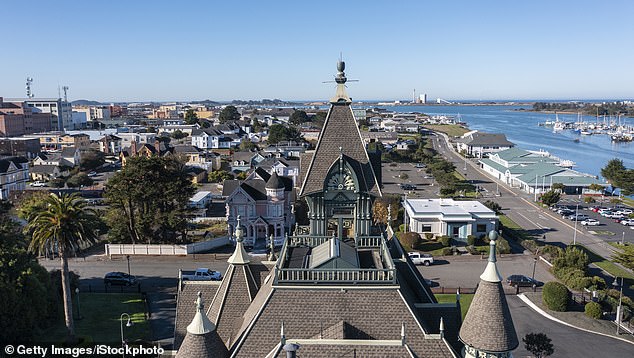
<svg viewBox="0 0 634 358">
<path fill-rule="evenodd" d="M 467 236 L 486 235 L 496 230 L 498 217 L 479 201 L 453 199 L 407 199 L 405 225 L 408 231 L 450 236 L 465 241 Z"/>
</svg>

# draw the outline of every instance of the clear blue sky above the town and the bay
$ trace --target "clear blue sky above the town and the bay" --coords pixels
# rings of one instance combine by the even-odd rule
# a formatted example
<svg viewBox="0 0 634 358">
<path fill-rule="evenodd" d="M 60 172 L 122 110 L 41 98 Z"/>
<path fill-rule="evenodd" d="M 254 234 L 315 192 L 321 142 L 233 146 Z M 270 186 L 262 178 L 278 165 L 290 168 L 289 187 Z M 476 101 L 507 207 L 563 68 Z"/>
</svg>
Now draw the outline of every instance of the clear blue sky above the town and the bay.
<svg viewBox="0 0 634 358">
<path fill-rule="evenodd" d="M 3 1 L 0 96 L 634 97 L 634 1 Z"/>
</svg>

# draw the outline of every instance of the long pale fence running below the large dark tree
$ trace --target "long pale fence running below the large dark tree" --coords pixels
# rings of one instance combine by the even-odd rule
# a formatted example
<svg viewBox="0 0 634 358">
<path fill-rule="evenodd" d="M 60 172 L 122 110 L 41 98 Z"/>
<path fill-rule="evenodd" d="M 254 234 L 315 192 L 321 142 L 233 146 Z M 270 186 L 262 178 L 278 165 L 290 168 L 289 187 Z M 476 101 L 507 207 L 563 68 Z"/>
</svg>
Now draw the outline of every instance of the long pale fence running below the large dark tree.
<svg viewBox="0 0 634 358">
<path fill-rule="evenodd" d="M 187 256 L 227 244 L 229 244 L 228 237 L 218 237 L 209 241 L 194 242 L 187 245 L 106 244 L 106 255 Z"/>
</svg>

